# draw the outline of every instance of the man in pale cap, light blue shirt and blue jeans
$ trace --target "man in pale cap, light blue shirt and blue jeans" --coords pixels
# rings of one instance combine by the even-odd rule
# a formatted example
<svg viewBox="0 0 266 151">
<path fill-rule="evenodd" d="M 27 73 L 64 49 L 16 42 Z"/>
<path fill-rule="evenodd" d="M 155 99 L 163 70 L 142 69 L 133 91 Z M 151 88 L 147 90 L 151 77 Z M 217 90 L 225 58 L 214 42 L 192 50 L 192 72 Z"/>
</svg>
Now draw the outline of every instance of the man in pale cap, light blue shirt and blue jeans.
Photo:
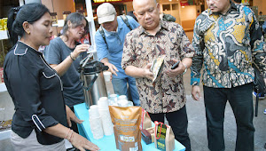
<svg viewBox="0 0 266 151">
<path fill-rule="evenodd" d="M 101 24 L 95 35 L 98 60 L 108 66 L 114 75 L 112 78 L 113 91 L 118 95 L 129 96 L 127 88 L 129 84 L 130 96 L 134 104 L 139 106 L 136 79 L 127 76 L 121 68 L 125 36 L 131 29 L 137 28 L 139 24 L 130 16 L 126 16 L 126 21 L 121 16 L 117 17 L 116 15 L 113 4 L 104 3 L 97 8 L 98 23 Z"/>
</svg>

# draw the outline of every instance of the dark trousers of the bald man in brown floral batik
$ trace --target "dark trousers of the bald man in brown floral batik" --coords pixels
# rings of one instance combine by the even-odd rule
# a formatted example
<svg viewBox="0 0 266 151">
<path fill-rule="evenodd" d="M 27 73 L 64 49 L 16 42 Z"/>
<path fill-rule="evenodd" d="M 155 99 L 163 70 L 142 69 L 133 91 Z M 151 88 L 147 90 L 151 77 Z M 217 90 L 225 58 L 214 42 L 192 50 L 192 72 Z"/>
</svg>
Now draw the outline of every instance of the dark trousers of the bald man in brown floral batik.
<svg viewBox="0 0 266 151">
<path fill-rule="evenodd" d="M 168 120 L 169 125 L 172 127 L 172 130 L 175 134 L 175 139 L 184 145 L 186 151 L 191 150 L 191 140 L 187 132 L 187 115 L 185 106 L 175 112 L 169 113 L 160 113 L 160 114 L 151 114 L 152 121 L 158 121 L 164 123 L 164 115 Z"/>
</svg>

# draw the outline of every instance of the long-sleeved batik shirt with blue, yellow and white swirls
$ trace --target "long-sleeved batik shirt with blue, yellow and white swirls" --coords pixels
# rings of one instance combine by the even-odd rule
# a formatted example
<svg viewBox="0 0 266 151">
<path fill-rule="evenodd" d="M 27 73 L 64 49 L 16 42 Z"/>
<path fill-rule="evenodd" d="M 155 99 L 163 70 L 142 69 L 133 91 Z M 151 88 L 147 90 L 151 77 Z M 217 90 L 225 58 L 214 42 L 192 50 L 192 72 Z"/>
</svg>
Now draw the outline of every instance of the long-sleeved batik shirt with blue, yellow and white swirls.
<svg viewBox="0 0 266 151">
<path fill-rule="evenodd" d="M 191 84 L 231 88 L 254 80 L 252 62 L 266 77 L 265 43 L 262 30 L 249 7 L 231 3 L 224 15 L 209 9 L 202 12 L 194 26 Z"/>
</svg>

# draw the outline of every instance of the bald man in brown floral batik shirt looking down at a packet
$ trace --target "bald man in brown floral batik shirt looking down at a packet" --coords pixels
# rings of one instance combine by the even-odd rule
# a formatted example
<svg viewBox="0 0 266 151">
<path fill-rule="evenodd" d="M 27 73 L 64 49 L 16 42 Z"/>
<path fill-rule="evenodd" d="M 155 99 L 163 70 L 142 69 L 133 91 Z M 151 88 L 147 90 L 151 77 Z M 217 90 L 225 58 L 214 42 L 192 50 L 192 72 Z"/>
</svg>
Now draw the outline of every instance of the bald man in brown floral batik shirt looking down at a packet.
<svg viewBox="0 0 266 151">
<path fill-rule="evenodd" d="M 133 7 L 141 26 L 126 36 L 121 66 L 136 77 L 141 107 L 153 121 L 164 123 L 166 115 L 175 138 L 190 151 L 183 73 L 192 65 L 192 44 L 180 25 L 160 20 L 156 0 L 134 0 Z M 161 74 L 153 82 L 152 62 L 162 56 Z M 177 61 L 179 66 L 171 69 Z"/>
</svg>

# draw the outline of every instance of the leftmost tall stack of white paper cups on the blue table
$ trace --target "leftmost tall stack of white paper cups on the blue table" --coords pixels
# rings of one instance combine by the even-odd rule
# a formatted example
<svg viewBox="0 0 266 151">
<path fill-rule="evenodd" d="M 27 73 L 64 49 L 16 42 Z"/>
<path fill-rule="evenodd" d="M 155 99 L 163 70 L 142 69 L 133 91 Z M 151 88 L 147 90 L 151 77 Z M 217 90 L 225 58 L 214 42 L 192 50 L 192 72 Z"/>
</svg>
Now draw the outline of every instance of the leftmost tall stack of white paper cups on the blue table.
<svg viewBox="0 0 266 151">
<path fill-rule="evenodd" d="M 90 131 L 93 134 L 94 139 L 102 139 L 104 137 L 104 131 L 102 127 L 102 121 L 98 113 L 98 106 L 90 106 L 89 109 L 89 118 L 90 118 Z"/>
</svg>

